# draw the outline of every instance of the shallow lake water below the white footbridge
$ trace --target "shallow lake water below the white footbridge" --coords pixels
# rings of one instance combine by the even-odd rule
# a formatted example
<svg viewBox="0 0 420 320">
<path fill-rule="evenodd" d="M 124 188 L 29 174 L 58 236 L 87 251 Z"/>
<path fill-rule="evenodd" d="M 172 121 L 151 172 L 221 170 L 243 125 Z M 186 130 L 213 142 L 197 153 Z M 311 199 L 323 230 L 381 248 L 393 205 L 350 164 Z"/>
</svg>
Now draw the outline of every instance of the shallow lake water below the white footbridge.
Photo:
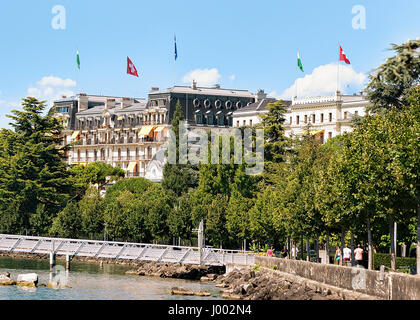
<svg viewBox="0 0 420 320">
<path fill-rule="evenodd" d="M 57 265 L 63 270 L 64 265 Z M 71 271 L 61 275 L 71 287 L 68 289 L 24 288 L 0 286 L 0 300 L 214 300 L 221 299 L 218 288 L 211 283 L 124 274 L 133 266 L 72 262 Z M 0 274 L 10 272 L 16 280 L 18 274 L 37 273 L 38 284 L 50 280 L 48 260 L 25 260 L 0 257 Z M 62 278 L 62 279 L 64 279 Z M 182 286 L 196 291 L 208 291 L 212 297 L 172 296 L 170 289 Z"/>
</svg>

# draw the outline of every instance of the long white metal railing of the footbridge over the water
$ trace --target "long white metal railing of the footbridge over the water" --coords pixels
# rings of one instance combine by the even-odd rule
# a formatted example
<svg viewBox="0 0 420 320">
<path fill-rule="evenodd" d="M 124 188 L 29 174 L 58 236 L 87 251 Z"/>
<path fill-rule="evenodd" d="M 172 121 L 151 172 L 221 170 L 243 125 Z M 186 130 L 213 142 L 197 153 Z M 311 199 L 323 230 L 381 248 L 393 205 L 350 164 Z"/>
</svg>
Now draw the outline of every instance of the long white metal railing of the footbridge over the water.
<svg viewBox="0 0 420 320">
<path fill-rule="evenodd" d="M 201 263 L 205 265 L 251 265 L 254 256 L 251 252 L 203 248 Z M 78 240 L 31 237 L 0 234 L 0 251 L 70 255 L 92 258 L 144 260 L 159 262 L 177 262 L 200 264 L 200 252 L 197 247 L 168 246 L 159 244 L 112 242 L 96 240 Z"/>
</svg>

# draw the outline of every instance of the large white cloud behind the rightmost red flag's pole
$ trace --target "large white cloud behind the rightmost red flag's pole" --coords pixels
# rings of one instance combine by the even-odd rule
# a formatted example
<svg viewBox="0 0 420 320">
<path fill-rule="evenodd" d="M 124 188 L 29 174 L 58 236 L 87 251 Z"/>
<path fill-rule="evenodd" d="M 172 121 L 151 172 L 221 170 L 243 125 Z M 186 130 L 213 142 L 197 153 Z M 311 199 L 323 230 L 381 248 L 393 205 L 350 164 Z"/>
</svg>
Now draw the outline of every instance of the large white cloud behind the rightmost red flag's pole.
<svg viewBox="0 0 420 320">
<path fill-rule="evenodd" d="M 361 88 L 366 75 L 362 72 L 357 73 L 352 66 L 340 65 L 339 80 L 340 91 L 345 92 L 345 88 L 355 86 Z M 278 98 L 292 99 L 296 94 L 295 83 L 288 89 L 284 90 Z M 311 74 L 303 78 L 297 79 L 297 95 L 299 97 L 317 96 L 324 94 L 332 94 L 337 90 L 337 63 L 330 63 L 315 68 Z M 275 92 L 275 91 L 273 91 Z M 272 93 L 270 93 L 271 95 Z"/>
</svg>

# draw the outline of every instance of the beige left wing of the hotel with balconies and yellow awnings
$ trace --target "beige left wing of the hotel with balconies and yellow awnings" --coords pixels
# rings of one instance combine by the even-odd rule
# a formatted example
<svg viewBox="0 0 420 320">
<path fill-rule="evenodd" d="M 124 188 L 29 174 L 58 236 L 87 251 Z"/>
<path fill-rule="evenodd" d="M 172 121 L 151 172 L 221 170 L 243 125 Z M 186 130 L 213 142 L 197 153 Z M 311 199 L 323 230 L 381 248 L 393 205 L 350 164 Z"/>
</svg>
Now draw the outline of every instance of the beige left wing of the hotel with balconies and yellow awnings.
<svg viewBox="0 0 420 320">
<path fill-rule="evenodd" d="M 63 144 L 73 143 L 67 162 L 100 161 L 120 166 L 128 177 L 144 177 L 146 166 L 167 140 L 165 105 L 147 100 L 79 94 L 55 102 L 66 128 Z"/>
</svg>

